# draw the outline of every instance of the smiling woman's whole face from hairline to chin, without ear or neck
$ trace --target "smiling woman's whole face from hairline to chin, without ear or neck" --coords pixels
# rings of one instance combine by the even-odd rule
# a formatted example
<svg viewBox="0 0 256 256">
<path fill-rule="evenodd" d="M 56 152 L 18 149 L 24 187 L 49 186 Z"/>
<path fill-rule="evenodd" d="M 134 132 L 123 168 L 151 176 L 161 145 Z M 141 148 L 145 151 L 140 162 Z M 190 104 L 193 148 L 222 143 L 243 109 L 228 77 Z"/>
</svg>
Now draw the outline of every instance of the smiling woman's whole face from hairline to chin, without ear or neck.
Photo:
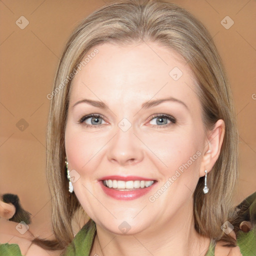
<svg viewBox="0 0 256 256">
<path fill-rule="evenodd" d="M 95 48 L 73 78 L 65 129 L 75 195 L 100 227 L 114 233 L 186 219 L 207 167 L 188 64 L 152 42 Z"/>
</svg>

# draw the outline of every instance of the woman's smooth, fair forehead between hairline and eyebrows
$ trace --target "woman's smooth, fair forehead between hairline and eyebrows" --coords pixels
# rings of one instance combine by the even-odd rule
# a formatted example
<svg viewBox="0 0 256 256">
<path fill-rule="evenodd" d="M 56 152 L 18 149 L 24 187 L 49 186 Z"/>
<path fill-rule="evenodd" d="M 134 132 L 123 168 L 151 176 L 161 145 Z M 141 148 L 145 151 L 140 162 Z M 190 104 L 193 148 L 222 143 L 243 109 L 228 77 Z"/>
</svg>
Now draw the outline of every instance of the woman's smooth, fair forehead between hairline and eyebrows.
<svg viewBox="0 0 256 256">
<path fill-rule="evenodd" d="M 90 55 L 95 49 L 97 54 Z M 86 53 L 77 71 L 71 104 L 83 97 L 107 103 L 115 99 L 118 104 L 166 96 L 198 101 L 189 65 L 175 51 L 155 42 L 97 45 Z"/>
</svg>

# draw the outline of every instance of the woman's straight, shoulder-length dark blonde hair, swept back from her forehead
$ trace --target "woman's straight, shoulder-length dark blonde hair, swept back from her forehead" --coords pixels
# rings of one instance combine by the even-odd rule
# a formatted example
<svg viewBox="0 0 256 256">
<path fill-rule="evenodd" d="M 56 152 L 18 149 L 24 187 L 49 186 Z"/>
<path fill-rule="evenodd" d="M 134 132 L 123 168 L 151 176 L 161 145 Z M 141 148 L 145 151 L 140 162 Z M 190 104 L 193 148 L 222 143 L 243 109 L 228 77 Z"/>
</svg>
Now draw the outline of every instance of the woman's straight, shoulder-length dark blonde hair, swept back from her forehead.
<svg viewBox="0 0 256 256">
<path fill-rule="evenodd" d="M 176 4 L 156 0 L 111 2 L 87 16 L 68 39 L 54 78 L 47 127 L 47 180 L 52 201 L 52 227 L 56 237 L 51 249 L 64 248 L 73 239 L 71 221 L 82 207 L 68 192 L 64 131 L 72 79 L 85 53 L 99 44 L 158 42 L 179 53 L 197 83 L 205 130 L 218 119 L 225 122 L 220 155 L 208 173 L 209 193 L 203 194 L 203 177 L 194 191 L 195 229 L 201 235 L 234 244 L 221 225 L 230 218 L 237 179 L 238 136 L 232 96 L 222 61 L 207 29 Z M 72 76 L 72 75 L 71 75 Z M 65 80 L 66 79 L 66 80 Z M 63 81 L 66 83 L 63 85 Z M 62 84 L 60 88 L 60 84 Z M 48 248 L 35 239 L 34 242 Z"/>
</svg>

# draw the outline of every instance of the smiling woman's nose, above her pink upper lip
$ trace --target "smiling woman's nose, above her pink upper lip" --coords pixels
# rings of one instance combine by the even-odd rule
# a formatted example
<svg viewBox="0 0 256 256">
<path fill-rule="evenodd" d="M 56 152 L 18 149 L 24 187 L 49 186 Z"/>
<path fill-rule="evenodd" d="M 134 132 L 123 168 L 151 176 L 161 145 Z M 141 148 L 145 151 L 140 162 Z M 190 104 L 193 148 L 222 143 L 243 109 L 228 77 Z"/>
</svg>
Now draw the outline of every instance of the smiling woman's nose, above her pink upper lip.
<svg viewBox="0 0 256 256">
<path fill-rule="evenodd" d="M 127 131 L 117 128 L 116 135 L 109 141 L 107 158 L 120 165 L 134 164 L 142 161 L 141 141 L 133 134 L 132 127 Z"/>
</svg>

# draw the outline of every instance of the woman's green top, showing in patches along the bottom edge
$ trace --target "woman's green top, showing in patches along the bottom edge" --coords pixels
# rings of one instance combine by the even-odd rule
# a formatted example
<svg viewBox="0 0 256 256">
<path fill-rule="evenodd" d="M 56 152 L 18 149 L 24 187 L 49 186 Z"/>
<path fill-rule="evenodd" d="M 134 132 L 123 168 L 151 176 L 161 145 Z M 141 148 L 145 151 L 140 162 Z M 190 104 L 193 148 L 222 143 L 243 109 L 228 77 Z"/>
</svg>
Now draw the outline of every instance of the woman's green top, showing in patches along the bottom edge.
<svg viewBox="0 0 256 256">
<path fill-rule="evenodd" d="M 242 206 L 241 206 L 242 205 Z M 238 208 L 245 208 L 246 214 L 243 214 L 241 220 L 250 220 L 253 229 L 249 232 L 238 231 L 237 245 L 243 256 L 256 256 L 256 192 L 248 196 Z M 96 224 L 90 219 L 75 235 L 74 239 L 67 246 L 64 256 L 89 256 L 96 234 Z M 205 256 L 214 256 L 215 243 L 211 240 L 208 251 Z M 17 244 L 0 244 L 0 255 L 4 256 L 22 256 Z"/>
</svg>

